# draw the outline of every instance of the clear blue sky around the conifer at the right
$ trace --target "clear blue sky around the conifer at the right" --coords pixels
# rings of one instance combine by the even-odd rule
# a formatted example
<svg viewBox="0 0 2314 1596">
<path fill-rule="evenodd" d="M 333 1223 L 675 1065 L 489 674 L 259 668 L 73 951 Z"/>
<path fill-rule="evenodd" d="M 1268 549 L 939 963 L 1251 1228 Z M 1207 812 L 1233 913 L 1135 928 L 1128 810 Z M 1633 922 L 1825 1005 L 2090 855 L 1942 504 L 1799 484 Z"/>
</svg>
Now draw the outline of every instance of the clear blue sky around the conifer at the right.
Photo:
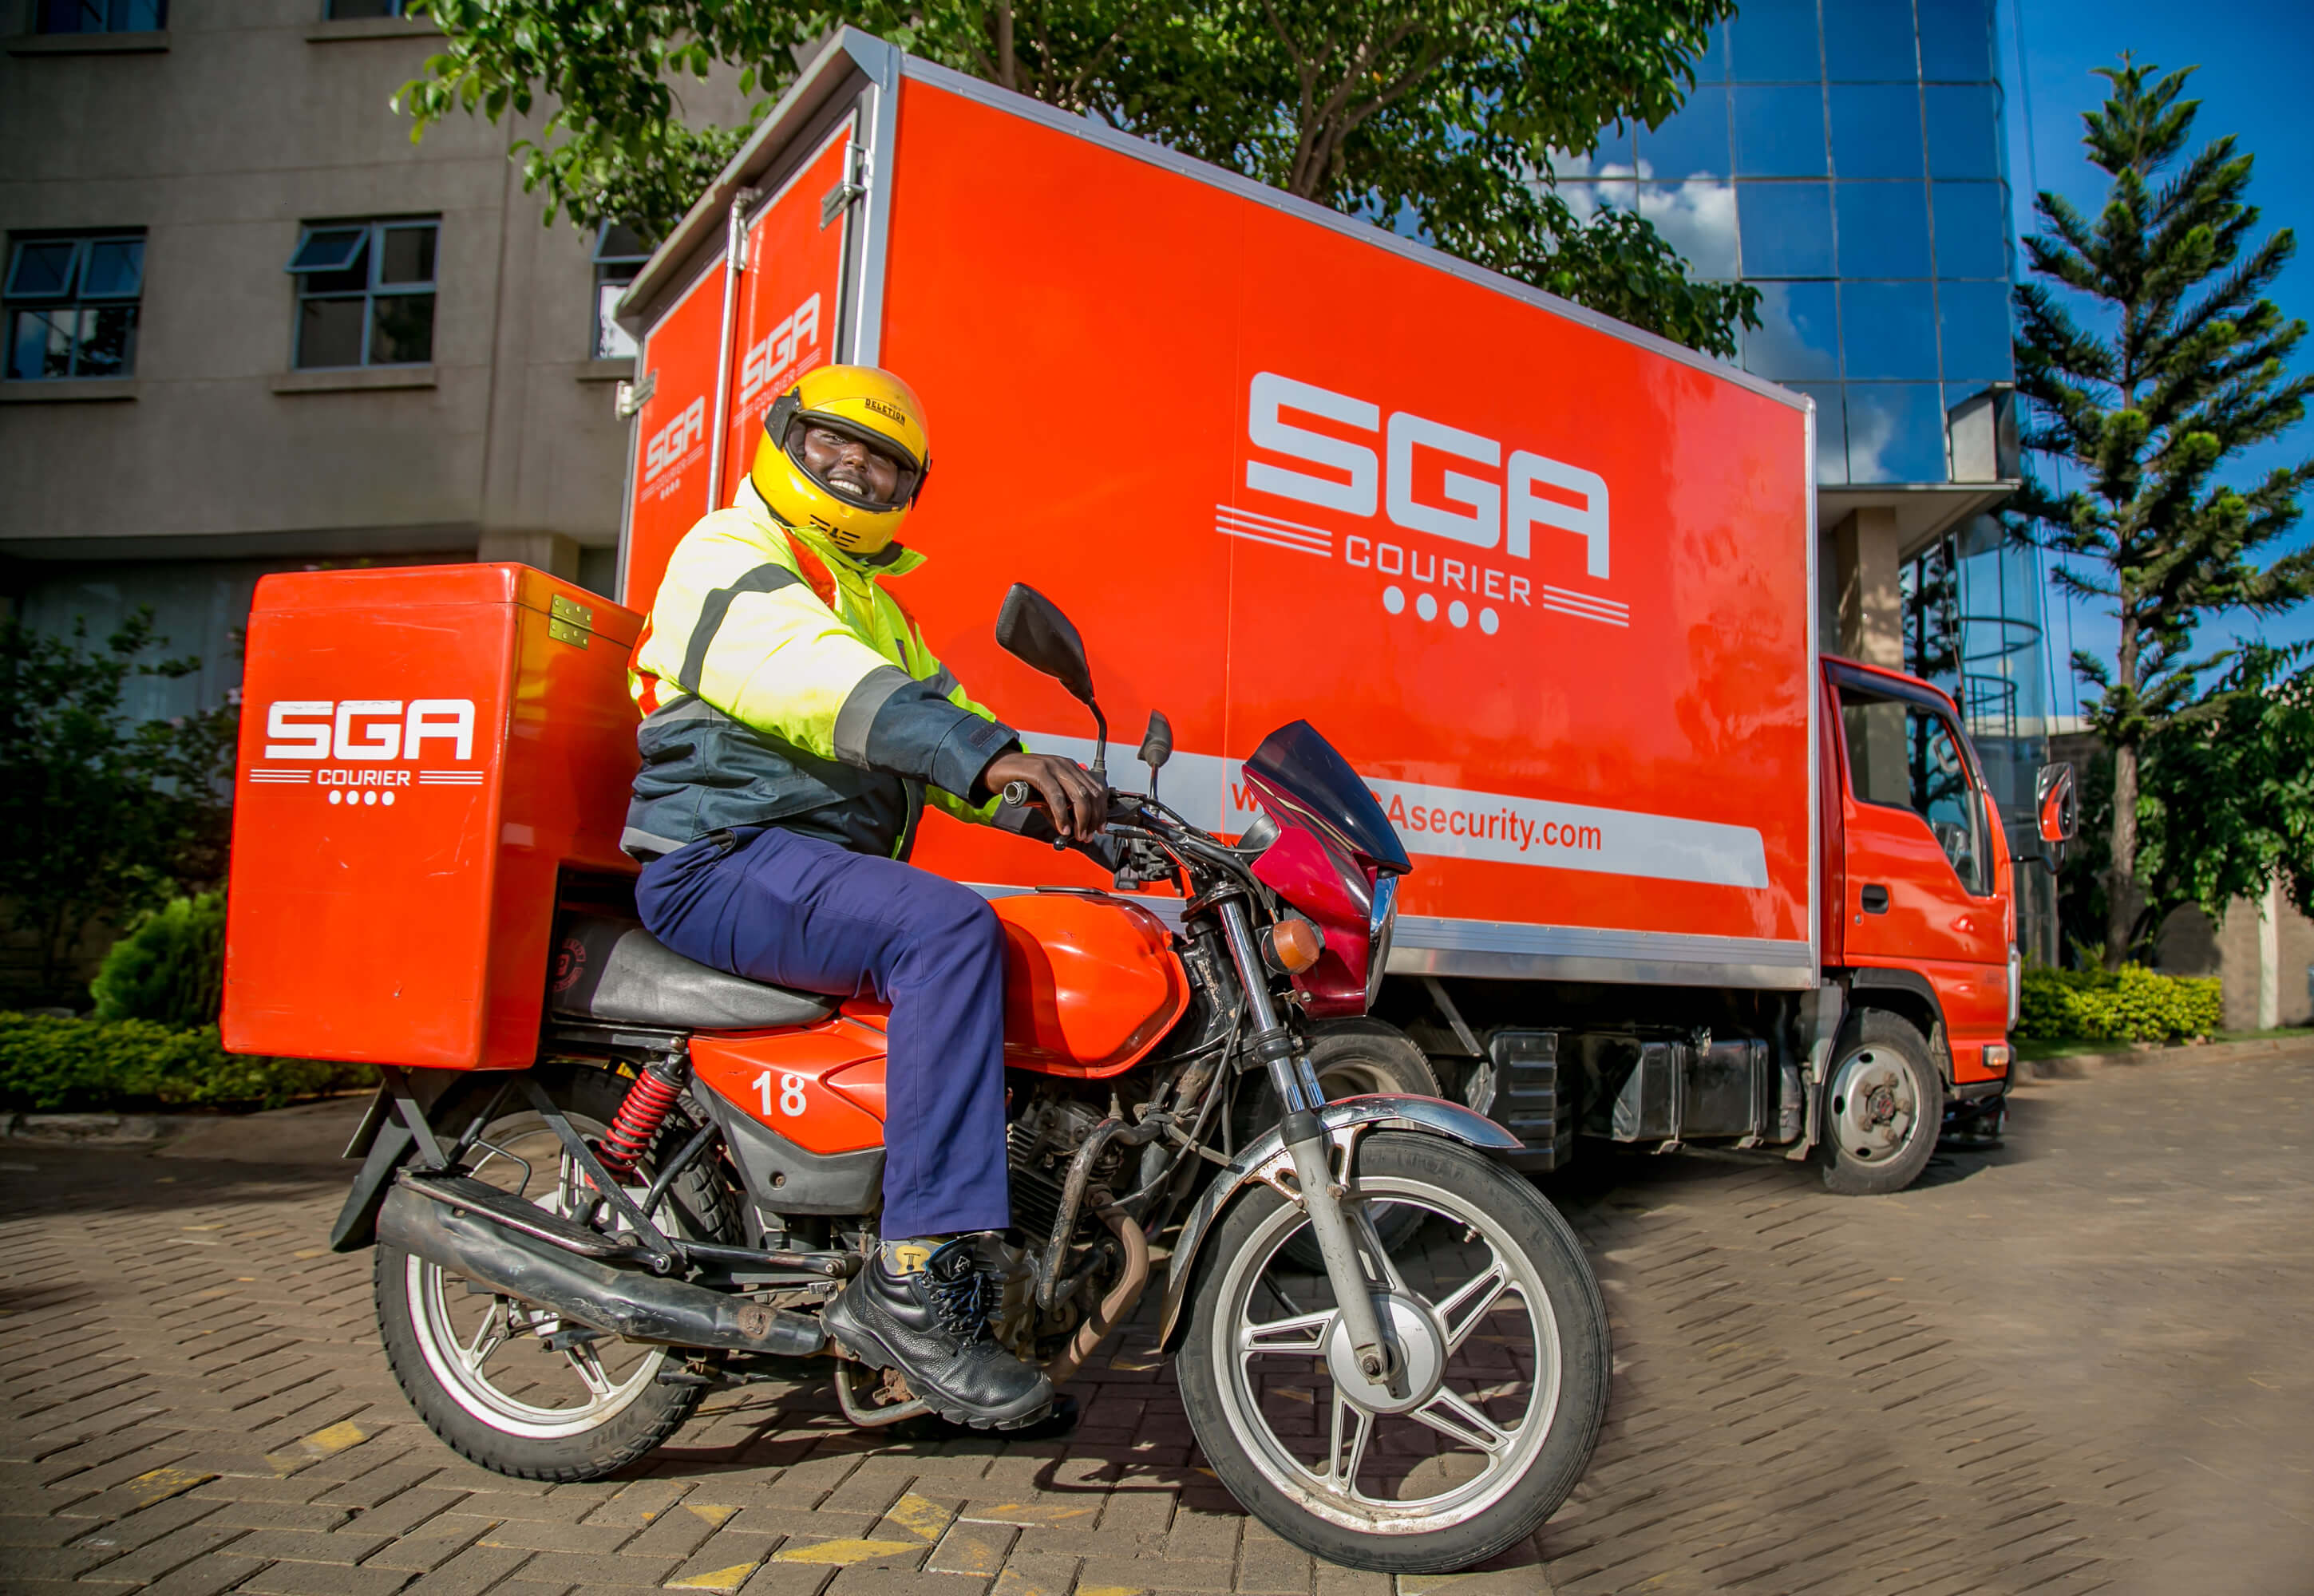
<svg viewBox="0 0 2314 1596">
<path fill-rule="evenodd" d="M 2154 0 L 2002 0 L 2002 53 L 2009 76 L 2009 180 L 2018 197 L 2018 229 L 2034 231 L 2032 190 L 2055 190 L 2094 215 L 2103 173 L 2080 148 L 2080 113 L 2103 99 L 2094 67 L 2117 65 L 2122 51 L 2140 62 L 2198 67 L 2189 95 L 2203 102 L 2194 139 L 2235 134 L 2258 157 L 2249 199 L 2263 227 L 2298 234 L 2298 259 L 2282 273 L 2275 301 L 2284 315 L 2314 322 L 2314 136 L 2307 99 L 2314 93 L 2314 5 L 2307 0 L 2224 0 L 2219 5 L 2157 5 Z M 2018 67 L 2022 65 L 2022 74 Z M 2314 335 L 2307 338 L 2314 345 Z M 2314 349 L 2300 347 L 2298 368 L 2314 370 Z M 2245 456 L 2235 481 L 2314 453 L 2314 421 L 2282 444 Z M 2309 516 L 2314 520 L 2314 516 Z M 2314 537 L 2300 523 L 2293 544 Z M 2071 648 L 2113 657 L 2115 625 L 2092 606 L 2050 592 L 2057 703 L 2069 710 L 2076 682 Z M 2314 638 L 2314 604 L 2282 620 L 2224 615 L 2203 629 L 2201 645 L 2258 634 L 2282 643 Z"/>
</svg>

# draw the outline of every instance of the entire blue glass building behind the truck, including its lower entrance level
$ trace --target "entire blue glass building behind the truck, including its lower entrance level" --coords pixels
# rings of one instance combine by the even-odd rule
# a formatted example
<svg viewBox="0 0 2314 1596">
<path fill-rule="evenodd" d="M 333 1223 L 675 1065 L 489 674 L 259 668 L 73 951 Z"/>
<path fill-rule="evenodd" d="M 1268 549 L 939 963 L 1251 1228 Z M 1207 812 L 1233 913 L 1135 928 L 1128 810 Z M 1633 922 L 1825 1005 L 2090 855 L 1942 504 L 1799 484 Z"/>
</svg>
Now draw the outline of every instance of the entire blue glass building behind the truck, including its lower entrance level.
<svg viewBox="0 0 2314 1596">
<path fill-rule="evenodd" d="M 1745 0 L 1687 104 L 1601 132 L 1560 187 L 1761 291 L 1742 368 L 1816 400 L 1826 648 L 1953 692 L 2036 851 L 2043 585 L 1990 516 L 2015 479 L 1997 62 L 1995 0 Z M 2029 958 L 2055 958 L 2048 886 L 2020 872 Z"/>
</svg>

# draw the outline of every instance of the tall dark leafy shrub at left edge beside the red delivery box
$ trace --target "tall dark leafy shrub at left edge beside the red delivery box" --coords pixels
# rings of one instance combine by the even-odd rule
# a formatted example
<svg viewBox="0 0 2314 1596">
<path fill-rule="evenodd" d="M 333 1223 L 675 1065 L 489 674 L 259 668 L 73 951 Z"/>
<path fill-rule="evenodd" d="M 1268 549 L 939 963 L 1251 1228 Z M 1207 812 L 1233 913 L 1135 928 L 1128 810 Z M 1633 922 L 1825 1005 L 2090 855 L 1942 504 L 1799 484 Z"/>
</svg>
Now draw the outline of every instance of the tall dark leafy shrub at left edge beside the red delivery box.
<svg viewBox="0 0 2314 1596">
<path fill-rule="evenodd" d="M 224 877 L 234 770 L 231 705 L 132 724 L 139 678 L 199 659 L 150 659 L 167 638 L 139 611 L 102 648 L 0 625 L 0 904 L 39 946 L 46 1002 L 93 923 L 123 923 Z"/>
</svg>

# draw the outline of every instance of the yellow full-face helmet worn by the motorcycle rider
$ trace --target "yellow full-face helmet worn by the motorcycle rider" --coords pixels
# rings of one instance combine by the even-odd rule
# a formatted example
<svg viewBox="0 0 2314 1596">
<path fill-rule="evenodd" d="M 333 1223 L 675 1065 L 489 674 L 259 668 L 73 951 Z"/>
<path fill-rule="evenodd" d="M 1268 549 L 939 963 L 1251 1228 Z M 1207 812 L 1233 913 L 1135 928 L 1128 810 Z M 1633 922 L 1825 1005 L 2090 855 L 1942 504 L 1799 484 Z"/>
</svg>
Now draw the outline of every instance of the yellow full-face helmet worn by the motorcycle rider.
<svg viewBox="0 0 2314 1596">
<path fill-rule="evenodd" d="M 803 463 L 808 426 L 856 437 L 896 460 L 900 486 L 891 500 L 868 500 L 815 476 Z M 787 525 L 817 527 L 838 548 L 872 555 L 900 532 L 930 467 L 933 439 L 914 389 L 875 365 L 821 365 L 773 400 L 752 479 Z"/>
</svg>

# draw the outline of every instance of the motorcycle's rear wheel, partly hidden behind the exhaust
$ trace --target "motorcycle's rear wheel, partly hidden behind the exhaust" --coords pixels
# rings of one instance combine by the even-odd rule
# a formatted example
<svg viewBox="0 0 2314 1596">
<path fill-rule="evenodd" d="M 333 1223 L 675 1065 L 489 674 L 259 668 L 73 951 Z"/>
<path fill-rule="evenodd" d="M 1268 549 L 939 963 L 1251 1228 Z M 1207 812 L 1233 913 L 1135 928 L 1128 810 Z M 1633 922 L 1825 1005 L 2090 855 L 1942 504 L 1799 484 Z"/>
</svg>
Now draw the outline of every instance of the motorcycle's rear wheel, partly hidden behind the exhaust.
<svg viewBox="0 0 2314 1596">
<path fill-rule="evenodd" d="M 491 1083 L 495 1089 L 495 1080 Z M 618 1115 L 627 1094 L 627 1078 L 604 1069 L 574 1069 L 541 1073 L 539 1085 L 565 1113 L 572 1129 L 588 1140 L 599 1140 Z M 472 1115 L 481 1101 L 444 1106 L 442 1122 L 456 1117 L 456 1108 Z M 463 1124 L 463 1117 L 458 1120 Z M 683 1110 L 673 1110 L 659 1126 L 650 1157 L 639 1168 L 639 1182 L 650 1180 L 657 1159 L 671 1157 L 692 1136 Z M 523 1150 L 514 1163 L 523 1166 L 523 1191 L 535 1191 L 539 1154 L 560 1163 L 560 1143 L 546 1122 L 514 1094 L 484 1129 L 481 1140 L 491 1147 Z M 495 1175 L 498 1154 L 486 1157 L 474 1173 L 502 1184 Z M 514 1166 L 504 1166 L 511 1175 Z M 729 1240 L 736 1224 L 731 1196 L 713 1175 L 713 1161 L 701 1159 L 687 1168 L 669 1189 L 669 1198 L 653 1219 L 673 1226 L 692 1240 Z M 553 1318 L 537 1318 L 516 1330 L 516 1314 L 535 1314 L 521 1302 L 495 1298 L 444 1274 L 433 1263 L 398 1247 L 379 1242 L 373 1286 L 377 1300 L 377 1332 L 386 1349 L 386 1365 L 400 1383 L 403 1395 L 417 1416 L 426 1420 L 442 1441 L 460 1457 L 518 1480 L 551 1480 L 569 1485 L 576 1480 L 599 1480 L 662 1446 L 699 1406 L 699 1386 L 662 1383 L 659 1369 L 678 1367 L 685 1353 L 666 1346 L 643 1346 L 618 1337 L 581 1339 L 560 1358 L 569 1365 L 572 1379 L 588 1392 L 576 1406 L 541 1406 L 525 1397 L 558 1395 L 553 1351 L 548 1335 L 588 1337 L 583 1328 L 565 1330 Z M 479 1307 L 488 1298 L 491 1307 Z M 481 1328 L 472 1342 L 458 1314 L 481 1316 Z M 504 1314 L 504 1335 L 484 1346 L 491 1316 Z M 535 1346 L 532 1346 L 535 1342 Z M 467 1367 L 467 1353 L 484 1349 Z M 498 1353 L 507 1362 L 518 1362 L 518 1372 L 491 1372 L 488 1362 Z M 597 1379 L 611 1383 L 604 1358 L 616 1358 L 620 1379 L 609 1397 L 595 1388 Z M 592 1365 L 592 1376 L 588 1374 Z M 507 1383 L 514 1388 L 509 1390 Z"/>
</svg>

